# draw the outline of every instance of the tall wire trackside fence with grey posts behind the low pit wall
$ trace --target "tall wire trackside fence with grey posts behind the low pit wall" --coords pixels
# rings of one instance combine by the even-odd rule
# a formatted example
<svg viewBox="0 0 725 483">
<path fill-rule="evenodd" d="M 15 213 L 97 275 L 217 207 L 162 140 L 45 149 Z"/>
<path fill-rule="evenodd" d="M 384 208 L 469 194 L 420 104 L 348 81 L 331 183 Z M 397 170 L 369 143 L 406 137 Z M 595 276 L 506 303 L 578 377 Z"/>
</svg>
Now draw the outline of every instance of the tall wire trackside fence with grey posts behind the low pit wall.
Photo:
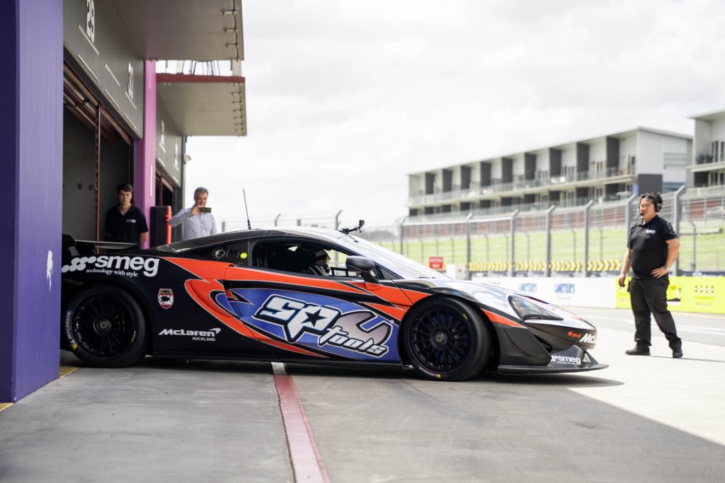
<svg viewBox="0 0 725 483">
<path fill-rule="evenodd" d="M 725 275 L 725 189 L 680 190 L 663 201 L 659 214 L 680 237 L 678 274 Z M 621 270 L 638 204 L 631 196 L 489 217 L 416 217 L 368 227 L 362 236 L 422 264 L 442 257 L 446 265 L 464 266 L 468 277 L 610 276 Z"/>
</svg>

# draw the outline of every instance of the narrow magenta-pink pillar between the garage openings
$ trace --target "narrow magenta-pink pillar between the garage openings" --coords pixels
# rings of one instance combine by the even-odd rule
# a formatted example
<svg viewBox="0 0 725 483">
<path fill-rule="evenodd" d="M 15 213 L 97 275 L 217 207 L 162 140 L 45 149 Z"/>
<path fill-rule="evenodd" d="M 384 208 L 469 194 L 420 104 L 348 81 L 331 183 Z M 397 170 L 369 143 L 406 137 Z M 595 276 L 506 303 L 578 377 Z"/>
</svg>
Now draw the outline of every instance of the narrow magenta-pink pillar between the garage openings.
<svg viewBox="0 0 725 483">
<path fill-rule="evenodd" d="M 136 141 L 135 151 L 133 202 L 150 222 L 156 198 L 156 62 L 152 60 L 144 62 L 144 138 Z M 141 248 L 149 248 L 149 242 Z"/>
</svg>

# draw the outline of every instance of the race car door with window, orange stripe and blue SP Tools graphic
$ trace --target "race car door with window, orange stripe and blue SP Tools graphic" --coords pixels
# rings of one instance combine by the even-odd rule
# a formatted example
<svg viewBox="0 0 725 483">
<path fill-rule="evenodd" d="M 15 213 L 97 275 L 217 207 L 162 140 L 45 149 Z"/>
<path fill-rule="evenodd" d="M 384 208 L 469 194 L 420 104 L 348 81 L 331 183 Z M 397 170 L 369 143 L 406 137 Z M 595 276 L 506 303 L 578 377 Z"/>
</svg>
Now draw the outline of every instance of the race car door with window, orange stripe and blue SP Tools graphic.
<svg viewBox="0 0 725 483">
<path fill-rule="evenodd" d="M 305 253 L 329 251 L 330 274 L 307 273 Z M 224 285 L 234 313 L 283 360 L 399 362 L 405 295 L 344 269 L 345 253 L 299 238 L 252 246 L 250 266 L 230 266 Z M 336 260 L 336 263 L 334 262 Z"/>
</svg>

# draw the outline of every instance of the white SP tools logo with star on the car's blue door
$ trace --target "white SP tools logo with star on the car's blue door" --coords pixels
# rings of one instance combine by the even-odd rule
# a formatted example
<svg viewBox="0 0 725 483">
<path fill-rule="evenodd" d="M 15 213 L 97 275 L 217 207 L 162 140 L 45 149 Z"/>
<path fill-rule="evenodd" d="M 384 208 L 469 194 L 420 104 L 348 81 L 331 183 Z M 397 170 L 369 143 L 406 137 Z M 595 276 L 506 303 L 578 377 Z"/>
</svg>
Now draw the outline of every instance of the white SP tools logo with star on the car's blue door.
<svg viewBox="0 0 725 483">
<path fill-rule="evenodd" d="M 342 314 L 334 307 L 281 295 L 271 295 L 254 314 L 255 319 L 283 326 L 285 337 L 291 343 L 297 342 L 306 332 L 318 336 L 320 347 L 329 344 L 380 357 L 388 351 L 383 344 L 389 339 L 392 329 L 384 322 L 372 329 L 362 327 L 363 323 L 375 317 L 370 311 Z"/>
</svg>

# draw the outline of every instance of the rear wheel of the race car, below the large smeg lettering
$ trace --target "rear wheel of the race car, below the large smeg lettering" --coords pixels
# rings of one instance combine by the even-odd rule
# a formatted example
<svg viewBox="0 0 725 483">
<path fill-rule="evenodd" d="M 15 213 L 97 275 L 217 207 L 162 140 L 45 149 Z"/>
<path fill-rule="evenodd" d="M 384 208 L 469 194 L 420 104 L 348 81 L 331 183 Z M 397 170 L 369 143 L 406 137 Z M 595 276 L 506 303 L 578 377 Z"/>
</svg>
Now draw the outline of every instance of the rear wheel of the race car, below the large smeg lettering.
<svg viewBox="0 0 725 483">
<path fill-rule="evenodd" d="M 81 361 L 126 367 L 146 355 L 146 322 L 138 302 L 114 285 L 80 290 L 65 308 L 62 337 Z"/>
</svg>

